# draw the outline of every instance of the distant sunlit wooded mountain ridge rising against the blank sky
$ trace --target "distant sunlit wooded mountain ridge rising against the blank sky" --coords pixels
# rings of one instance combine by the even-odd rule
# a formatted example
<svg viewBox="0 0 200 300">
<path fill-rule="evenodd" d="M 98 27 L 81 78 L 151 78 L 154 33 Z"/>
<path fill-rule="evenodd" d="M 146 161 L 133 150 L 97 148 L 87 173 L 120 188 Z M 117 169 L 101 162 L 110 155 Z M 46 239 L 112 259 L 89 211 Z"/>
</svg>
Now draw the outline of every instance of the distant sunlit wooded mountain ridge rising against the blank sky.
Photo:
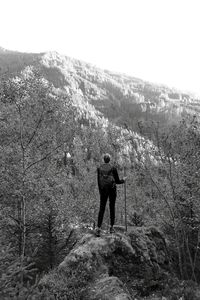
<svg viewBox="0 0 200 300">
<path fill-rule="evenodd" d="M 136 131 L 139 120 L 166 124 L 200 111 L 199 99 L 174 88 L 102 70 L 57 52 L 34 54 L 0 48 L 1 76 L 15 76 L 28 66 L 37 68 L 55 88 L 74 96 L 80 109 L 85 107 L 85 111 Z"/>
</svg>

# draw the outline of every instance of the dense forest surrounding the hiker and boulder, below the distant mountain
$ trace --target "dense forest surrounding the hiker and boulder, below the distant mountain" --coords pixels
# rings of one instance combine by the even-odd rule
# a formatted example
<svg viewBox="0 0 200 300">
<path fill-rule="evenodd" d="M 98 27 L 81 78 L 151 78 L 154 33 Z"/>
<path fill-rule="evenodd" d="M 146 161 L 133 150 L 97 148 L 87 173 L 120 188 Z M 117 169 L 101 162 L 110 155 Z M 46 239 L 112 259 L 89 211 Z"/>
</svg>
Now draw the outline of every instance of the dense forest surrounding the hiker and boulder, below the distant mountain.
<svg viewBox="0 0 200 300">
<path fill-rule="evenodd" d="M 159 228 L 173 274 L 191 282 L 184 299 L 197 299 L 191 295 L 200 282 L 199 119 L 185 113 L 172 124 L 136 123 L 137 133 L 92 119 L 35 69 L 2 76 L 0 299 L 83 299 L 70 284 L 68 298 L 55 298 L 40 279 L 71 251 L 75 228 L 95 227 L 96 169 L 107 152 L 119 175 L 127 175 L 127 215 L 119 187 L 116 224 Z M 108 224 L 106 212 L 105 230 Z"/>
</svg>

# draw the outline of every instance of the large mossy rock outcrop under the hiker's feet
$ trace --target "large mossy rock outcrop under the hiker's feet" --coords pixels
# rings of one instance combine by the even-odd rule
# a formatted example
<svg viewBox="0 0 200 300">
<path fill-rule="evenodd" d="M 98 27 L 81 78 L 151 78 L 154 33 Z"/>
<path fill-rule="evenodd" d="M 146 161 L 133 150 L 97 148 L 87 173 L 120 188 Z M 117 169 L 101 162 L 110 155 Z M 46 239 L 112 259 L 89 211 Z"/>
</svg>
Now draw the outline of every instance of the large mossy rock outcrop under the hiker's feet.
<svg viewBox="0 0 200 300">
<path fill-rule="evenodd" d="M 54 295 L 62 290 L 66 299 L 128 300 L 162 291 L 169 274 L 162 234 L 155 228 L 133 227 L 126 234 L 99 238 L 84 234 L 41 285 Z"/>
</svg>

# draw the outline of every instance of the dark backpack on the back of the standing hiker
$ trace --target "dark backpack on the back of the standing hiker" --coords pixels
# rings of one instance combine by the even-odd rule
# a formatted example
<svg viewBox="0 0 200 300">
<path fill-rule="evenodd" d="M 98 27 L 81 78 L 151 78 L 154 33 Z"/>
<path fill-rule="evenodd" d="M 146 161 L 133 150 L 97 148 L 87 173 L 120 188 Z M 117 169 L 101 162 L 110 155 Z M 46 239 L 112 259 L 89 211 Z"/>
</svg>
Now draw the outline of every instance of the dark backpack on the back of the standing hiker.
<svg viewBox="0 0 200 300">
<path fill-rule="evenodd" d="M 115 179 L 113 176 L 113 168 L 110 165 L 102 165 L 99 168 L 99 184 L 100 188 L 114 188 Z"/>
</svg>

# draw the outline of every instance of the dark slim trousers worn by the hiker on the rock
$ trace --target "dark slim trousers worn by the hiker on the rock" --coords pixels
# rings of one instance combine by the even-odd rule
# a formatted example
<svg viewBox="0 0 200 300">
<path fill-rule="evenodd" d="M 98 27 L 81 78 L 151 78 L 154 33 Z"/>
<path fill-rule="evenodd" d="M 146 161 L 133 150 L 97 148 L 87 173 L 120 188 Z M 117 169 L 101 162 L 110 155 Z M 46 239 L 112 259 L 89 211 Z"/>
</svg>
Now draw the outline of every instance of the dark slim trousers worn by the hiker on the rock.
<svg viewBox="0 0 200 300">
<path fill-rule="evenodd" d="M 100 192 L 100 208 L 99 208 L 99 215 L 98 215 L 98 223 L 97 226 L 101 227 L 103 222 L 103 216 L 106 208 L 106 203 L 109 198 L 109 206 L 110 206 L 110 225 L 113 226 L 115 223 L 115 201 L 116 201 L 116 189 L 108 189 L 102 190 Z"/>
</svg>

